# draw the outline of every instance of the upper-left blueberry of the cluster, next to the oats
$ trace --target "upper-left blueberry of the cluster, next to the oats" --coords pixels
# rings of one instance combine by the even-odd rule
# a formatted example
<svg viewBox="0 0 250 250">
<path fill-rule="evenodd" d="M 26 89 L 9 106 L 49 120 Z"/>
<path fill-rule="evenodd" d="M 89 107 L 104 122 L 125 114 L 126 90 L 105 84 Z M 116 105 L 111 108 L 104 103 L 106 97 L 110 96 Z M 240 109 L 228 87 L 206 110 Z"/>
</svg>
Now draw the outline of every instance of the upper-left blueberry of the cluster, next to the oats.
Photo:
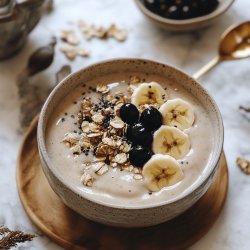
<svg viewBox="0 0 250 250">
<path fill-rule="evenodd" d="M 120 108 L 121 119 L 129 125 L 132 125 L 139 120 L 139 110 L 132 103 L 125 103 Z"/>
</svg>

